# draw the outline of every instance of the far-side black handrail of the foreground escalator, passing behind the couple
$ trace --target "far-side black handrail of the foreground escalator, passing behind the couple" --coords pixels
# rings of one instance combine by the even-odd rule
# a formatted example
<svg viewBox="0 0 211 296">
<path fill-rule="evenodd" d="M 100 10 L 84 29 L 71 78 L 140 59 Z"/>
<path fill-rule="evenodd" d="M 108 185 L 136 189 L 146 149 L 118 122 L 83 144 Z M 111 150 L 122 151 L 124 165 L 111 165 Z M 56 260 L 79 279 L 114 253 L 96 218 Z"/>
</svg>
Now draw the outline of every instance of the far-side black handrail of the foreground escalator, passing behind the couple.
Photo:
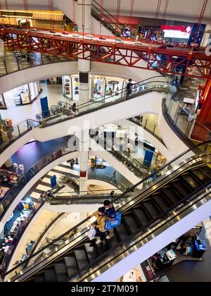
<svg viewBox="0 0 211 296">
<path fill-rule="evenodd" d="M 117 202 L 118 199 L 124 197 L 124 195 L 127 195 L 129 192 L 134 192 L 134 190 L 136 189 L 136 187 L 143 185 L 144 183 L 146 183 L 146 181 L 148 180 L 148 178 L 152 178 L 154 175 L 157 175 L 158 173 L 161 173 L 163 171 L 164 168 L 168 168 L 168 166 L 170 166 L 170 164 L 174 163 L 174 161 L 177 161 L 177 159 L 181 159 L 181 157 L 185 156 L 186 154 L 188 154 L 189 152 L 193 152 L 193 150 L 195 149 L 199 149 L 202 145 L 209 145 L 211 144 L 211 140 L 204 142 L 204 143 L 200 143 L 190 149 L 188 149 L 186 152 L 183 152 L 182 154 L 180 154 L 179 156 L 175 157 L 172 161 L 170 161 L 169 163 L 165 164 L 165 166 L 163 166 L 162 168 L 160 168 L 158 171 L 155 171 L 154 173 L 151 173 L 151 175 L 149 175 L 148 177 L 144 178 L 143 180 L 141 180 L 139 183 L 137 183 L 136 185 L 130 187 L 129 189 L 127 189 L 125 192 L 122 193 L 122 195 L 120 195 L 119 197 L 117 197 L 114 202 Z M 159 180 L 160 178 L 158 178 L 157 180 Z M 150 187 L 147 188 L 147 190 L 149 190 L 151 187 L 153 187 L 155 184 L 151 184 Z M 20 266 L 23 266 L 23 264 L 25 264 L 26 262 L 29 262 L 32 258 L 36 257 L 38 254 L 40 254 L 41 252 L 44 252 L 45 249 L 48 249 L 51 245 L 55 244 L 55 242 L 57 242 L 58 240 L 60 240 L 61 238 L 63 238 L 65 235 L 68 235 L 68 233 L 72 232 L 73 230 L 79 228 L 80 226 L 82 226 L 84 223 L 86 223 L 87 221 L 89 221 L 90 218 L 94 217 L 96 214 L 96 212 L 94 214 L 91 214 L 89 217 L 87 217 L 84 221 L 81 221 L 80 223 L 77 224 L 77 226 L 74 226 L 73 228 L 71 228 L 70 230 L 68 230 L 67 232 L 63 233 L 63 235 L 60 235 L 59 238 L 57 238 L 56 240 L 53 240 L 53 242 L 51 242 L 49 245 L 46 245 L 44 248 L 40 249 L 38 252 L 34 253 L 31 257 L 27 258 L 25 261 L 23 261 L 23 263 L 18 264 L 18 266 L 15 266 L 15 268 L 11 269 L 11 271 L 8 271 L 7 273 L 4 274 L 4 276 L 7 276 L 9 273 L 11 273 L 12 271 L 15 271 L 16 269 L 18 269 Z"/>
</svg>

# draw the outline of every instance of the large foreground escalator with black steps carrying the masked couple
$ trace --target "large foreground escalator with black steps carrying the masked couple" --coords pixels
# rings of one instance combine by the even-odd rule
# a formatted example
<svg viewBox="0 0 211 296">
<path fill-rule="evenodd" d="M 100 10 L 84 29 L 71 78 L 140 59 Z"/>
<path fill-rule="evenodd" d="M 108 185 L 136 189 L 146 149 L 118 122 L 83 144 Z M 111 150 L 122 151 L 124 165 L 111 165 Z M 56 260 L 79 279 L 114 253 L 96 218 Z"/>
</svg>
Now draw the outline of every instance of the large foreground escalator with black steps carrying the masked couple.
<svg viewBox="0 0 211 296">
<path fill-rule="evenodd" d="M 60 248 L 46 252 L 46 249 L 53 245 L 52 242 L 27 259 L 27 269 L 21 269 L 20 264 L 4 276 L 10 278 L 10 281 L 90 281 L 103 271 L 112 269 L 117 262 L 124 264 L 124 260 L 137 249 L 141 249 L 146 242 L 153 242 L 158 234 L 165 233 L 174 224 L 179 227 L 178 221 L 182 221 L 190 213 L 198 211 L 200 206 L 210 202 L 210 148 L 211 141 L 189 149 L 154 173 L 162 174 L 155 181 L 151 180 L 152 175 L 142 180 L 139 185 L 148 185 L 117 206 L 117 209 L 122 211 L 122 223 L 115 228 L 115 235 L 111 240 L 104 240 L 101 245 L 88 240 L 87 232 L 90 223 L 94 221 L 94 215 L 91 215 L 72 228 L 78 230 L 77 234 L 65 241 Z M 137 185 L 129 191 L 136 187 Z M 117 197 L 119 198 L 121 196 Z M 198 215 L 192 219 L 193 226 L 202 221 L 198 219 Z M 179 228 L 179 231 L 181 235 L 184 234 L 183 229 Z M 167 245 L 166 242 L 163 244 L 163 247 Z M 44 257 L 37 260 L 37 256 L 40 258 L 44 251 Z M 147 258 L 139 260 L 144 261 Z M 136 261 L 136 264 L 141 263 L 140 261 Z M 21 272 L 15 275 L 15 271 Z"/>
</svg>

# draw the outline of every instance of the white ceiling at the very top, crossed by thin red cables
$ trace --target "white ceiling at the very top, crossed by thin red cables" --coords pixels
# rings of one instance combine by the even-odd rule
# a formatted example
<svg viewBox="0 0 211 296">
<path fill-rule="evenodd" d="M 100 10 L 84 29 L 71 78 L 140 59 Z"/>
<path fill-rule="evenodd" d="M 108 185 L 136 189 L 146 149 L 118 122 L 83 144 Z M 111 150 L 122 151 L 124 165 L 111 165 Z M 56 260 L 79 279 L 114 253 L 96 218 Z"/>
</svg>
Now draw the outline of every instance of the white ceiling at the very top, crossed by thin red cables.
<svg viewBox="0 0 211 296">
<path fill-rule="evenodd" d="M 54 3 L 56 5 L 56 1 Z M 72 0 L 70 6 L 72 5 Z M 96 0 L 101 3 L 101 0 Z M 129 15 L 131 0 L 120 0 L 120 15 Z M 23 0 L 8 0 L 8 6 L 10 9 L 24 9 Z M 49 0 L 28 0 L 30 9 L 37 10 L 49 10 Z M 103 0 L 103 5 L 110 13 L 115 14 L 117 8 L 117 0 Z M 134 0 L 134 16 L 142 16 L 148 18 L 155 18 L 155 12 L 157 9 L 158 0 Z M 1 6 L 5 8 L 5 1 L 1 0 Z M 203 6 L 203 0 L 169 0 L 169 8 L 167 11 L 167 19 L 170 20 L 186 20 L 194 21 L 198 23 L 201 8 Z M 165 8 L 165 0 L 162 0 L 161 13 Z M 55 7 L 56 10 L 56 7 Z M 63 11 L 65 13 L 65 11 Z M 211 0 L 208 0 L 207 8 L 203 23 L 211 23 Z"/>
</svg>

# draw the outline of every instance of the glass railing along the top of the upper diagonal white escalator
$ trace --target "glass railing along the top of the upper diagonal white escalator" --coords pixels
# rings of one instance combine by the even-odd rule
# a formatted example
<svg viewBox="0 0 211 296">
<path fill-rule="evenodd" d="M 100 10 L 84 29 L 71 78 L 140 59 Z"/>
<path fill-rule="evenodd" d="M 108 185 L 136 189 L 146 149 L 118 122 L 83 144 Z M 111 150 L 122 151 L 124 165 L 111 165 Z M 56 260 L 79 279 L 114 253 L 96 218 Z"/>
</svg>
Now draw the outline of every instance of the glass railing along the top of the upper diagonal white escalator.
<svg viewBox="0 0 211 296">
<path fill-rule="evenodd" d="M 63 102 L 59 101 L 59 106 L 51 106 L 51 110 L 49 110 L 47 114 L 37 114 L 38 121 L 28 119 L 27 121 L 20 123 L 20 125 L 15 126 L 13 130 L 5 132 L 5 141 L 0 145 L 0 152 L 4 152 L 4 150 L 13 144 L 15 140 L 23 137 L 23 135 L 29 132 L 32 128 L 45 128 L 50 125 L 55 125 L 57 123 L 70 120 L 71 118 L 75 118 L 76 116 L 83 116 L 87 113 L 102 109 L 106 106 L 118 104 L 128 99 L 133 99 L 134 97 L 145 94 L 146 92 L 171 92 L 170 82 L 156 81 L 157 78 L 158 76 L 155 76 L 137 83 L 133 86 L 132 94 L 129 96 L 127 96 L 127 89 L 124 88 L 119 90 L 118 98 L 115 96 L 115 94 L 113 94 L 110 97 L 101 97 L 98 99 L 98 101 L 91 100 L 87 103 L 80 104 L 77 106 L 77 112 L 74 114 L 72 113 L 72 106 L 70 106 L 70 104 L 60 106 L 60 104 Z"/>
</svg>

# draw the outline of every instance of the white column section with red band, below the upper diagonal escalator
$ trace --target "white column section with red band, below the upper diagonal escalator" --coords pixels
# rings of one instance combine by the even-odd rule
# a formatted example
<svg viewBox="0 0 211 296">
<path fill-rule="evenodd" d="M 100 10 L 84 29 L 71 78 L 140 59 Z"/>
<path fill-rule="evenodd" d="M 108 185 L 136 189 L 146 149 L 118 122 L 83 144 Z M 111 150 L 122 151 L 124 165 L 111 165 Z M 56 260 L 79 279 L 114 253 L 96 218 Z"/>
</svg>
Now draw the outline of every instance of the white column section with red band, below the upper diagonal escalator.
<svg viewBox="0 0 211 296">
<path fill-rule="evenodd" d="M 81 139 L 79 139 L 79 191 L 80 195 L 86 195 L 88 190 L 88 157 L 89 157 L 89 131 L 82 130 Z"/>
</svg>

